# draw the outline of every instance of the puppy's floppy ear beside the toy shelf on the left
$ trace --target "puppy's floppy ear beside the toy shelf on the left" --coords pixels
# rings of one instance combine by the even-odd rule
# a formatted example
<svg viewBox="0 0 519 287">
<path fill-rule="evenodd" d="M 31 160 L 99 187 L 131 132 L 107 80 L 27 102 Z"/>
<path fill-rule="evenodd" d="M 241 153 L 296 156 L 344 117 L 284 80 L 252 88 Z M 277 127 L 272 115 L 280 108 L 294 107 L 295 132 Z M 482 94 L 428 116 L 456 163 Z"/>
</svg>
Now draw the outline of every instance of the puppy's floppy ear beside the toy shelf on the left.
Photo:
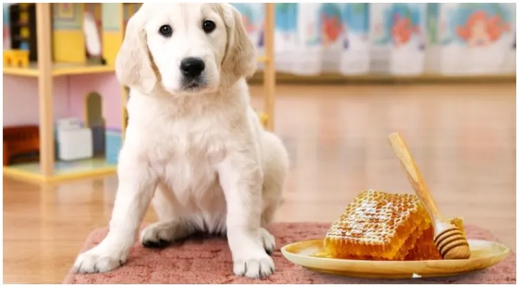
<svg viewBox="0 0 519 287">
<path fill-rule="evenodd" d="M 122 85 L 137 89 L 144 94 L 151 93 L 157 84 L 157 76 L 153 71 L 144 31 L 146 17 L 146 11 L 140 8 L 129 19 L 122 46 L 115 58 L 117 80 Z"/>
</svg>

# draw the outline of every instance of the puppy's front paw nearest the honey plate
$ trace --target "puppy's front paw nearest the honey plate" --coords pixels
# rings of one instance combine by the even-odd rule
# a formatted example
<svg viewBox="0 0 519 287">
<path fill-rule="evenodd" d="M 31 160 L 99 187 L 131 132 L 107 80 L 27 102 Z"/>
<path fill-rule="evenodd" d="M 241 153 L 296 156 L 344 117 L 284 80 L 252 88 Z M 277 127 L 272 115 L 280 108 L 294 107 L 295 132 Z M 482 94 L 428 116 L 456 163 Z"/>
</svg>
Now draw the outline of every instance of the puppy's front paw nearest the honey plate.
<svg viewBox="0 0 519 287">
<path fill-rule="evenodd" d="M 274 261 L 266 253 L 260 257 L 239 258 L 234 260 L 234 274 L 253 279 L 268 277 L 274 272 Z"/>
</svg>

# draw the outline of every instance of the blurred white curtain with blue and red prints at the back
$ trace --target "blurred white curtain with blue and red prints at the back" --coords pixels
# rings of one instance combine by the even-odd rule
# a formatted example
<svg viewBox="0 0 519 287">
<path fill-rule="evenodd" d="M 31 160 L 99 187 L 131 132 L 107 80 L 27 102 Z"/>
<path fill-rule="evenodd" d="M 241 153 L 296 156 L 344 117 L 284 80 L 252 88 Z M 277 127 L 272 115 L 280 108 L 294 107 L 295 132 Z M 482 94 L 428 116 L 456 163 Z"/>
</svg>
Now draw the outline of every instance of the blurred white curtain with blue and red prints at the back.
<svg viewBox="0 0 519 287">
<path fill-rule="evenodd" d="M 236 3 L 263 50 L 263 3 Z M 513 3 L 276 3 L 276 71 L 493 75 L 516 71 Z"/>
</svg>

